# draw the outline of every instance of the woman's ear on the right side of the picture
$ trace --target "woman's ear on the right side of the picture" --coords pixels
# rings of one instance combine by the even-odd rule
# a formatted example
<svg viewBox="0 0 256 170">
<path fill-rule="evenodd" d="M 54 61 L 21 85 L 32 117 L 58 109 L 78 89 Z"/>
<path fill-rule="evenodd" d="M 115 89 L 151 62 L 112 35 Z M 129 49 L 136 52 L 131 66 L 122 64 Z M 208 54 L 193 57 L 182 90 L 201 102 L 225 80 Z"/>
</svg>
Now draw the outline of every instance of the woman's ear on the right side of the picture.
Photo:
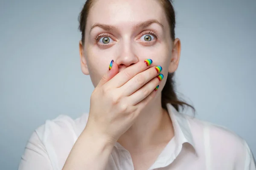
<svg viewBox="0 0 256 170">
<path fill-rule="evenodd" d="M 168 69 L 169 73 L 175 72 L 178 68 L 178 65 L 180 62 L 180 50 L 181 50 L 180 39 L 176 38 L 173 42 L 172 59 Z"/>
</svg>

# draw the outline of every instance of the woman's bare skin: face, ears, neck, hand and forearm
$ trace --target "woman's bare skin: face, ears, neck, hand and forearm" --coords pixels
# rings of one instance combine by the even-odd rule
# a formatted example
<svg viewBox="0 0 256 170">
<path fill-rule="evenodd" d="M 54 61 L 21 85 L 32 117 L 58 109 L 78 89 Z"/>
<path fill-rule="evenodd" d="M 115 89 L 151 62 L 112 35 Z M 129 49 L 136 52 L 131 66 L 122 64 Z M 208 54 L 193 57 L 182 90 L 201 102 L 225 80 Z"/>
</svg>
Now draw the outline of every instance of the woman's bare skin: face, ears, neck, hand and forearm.
<svg viewBox="0 0 256 170">
<path fill-rule="evenodd" d="M 136 27 L 149 20 L 160 24 Z M 104 29 L 96 24 L 115 29 Z M 151 35 L 150 42 L 144 40 L 143 33 Z M 95 40 L 102 34 L 102 37 L 110 37 L 108 44 L 100 41 L 101 38 Z M 161 107 L 161 91 L 168 72 L 173 73 L 178 67 L 180 40 L 171 39 L 162 6 L 157 0 L 97 0 L 90 9 L 84 45 L 80 41 L 79 50 L 81 71 L 90 75 L 95 90 L 91 96 L 87 125 L 74 145 L 64 170 L 83 166 L 104 169 L 104 165 L 93 167 L 93 161 L 106 164 L 116 141 L 131 154 L 135 170 L 148 169 L 174 136 L 172 121 Z M 112 59 L 113 67 L 108 71 Z M 146 66 L 145 59 L 152 59 L 153 63 Z M 154 70 L 158 65 L 163 68 L 161 82 Z M 158 84 L 159 89 L 154 91 Z M 134 87 L 139 89 L 136 91 Z M 142 97 L 144 102 L 136 101 L 142 94 L 148 96 Z M 90 139 L 94 142 L 88 142 Z M 104 145 L 106 140 L 108 144 Z M 91 153 L 89 146 L 100 150 Z M 79 150 L 91 153 L 88 163 L 81 160 L 84 152 Z M 74 160 L 76 167 L 73 166 Z"/>
</svg>

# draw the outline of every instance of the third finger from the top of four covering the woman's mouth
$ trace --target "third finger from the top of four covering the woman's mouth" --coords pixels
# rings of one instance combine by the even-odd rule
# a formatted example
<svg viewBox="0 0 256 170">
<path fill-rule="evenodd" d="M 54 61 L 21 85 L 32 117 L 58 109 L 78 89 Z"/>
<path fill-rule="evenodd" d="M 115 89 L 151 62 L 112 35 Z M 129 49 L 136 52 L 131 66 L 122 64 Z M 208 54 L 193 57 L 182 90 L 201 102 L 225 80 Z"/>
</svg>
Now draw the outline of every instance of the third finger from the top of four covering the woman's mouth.
<svg viewBox="0 0 256 170">
<path fill-rule="evenodd" d="M 137 105 L 138 103 L 146 99 L 152 92 L 156 92 L 159 88 L 160 82 L 161 80 L 159 76 L 151 79 L 142 88 L 131 94 L 131 96 L 127 96 L 126 101 L 128 101 L 128 103 L 131 105 Z"/>
</svg>

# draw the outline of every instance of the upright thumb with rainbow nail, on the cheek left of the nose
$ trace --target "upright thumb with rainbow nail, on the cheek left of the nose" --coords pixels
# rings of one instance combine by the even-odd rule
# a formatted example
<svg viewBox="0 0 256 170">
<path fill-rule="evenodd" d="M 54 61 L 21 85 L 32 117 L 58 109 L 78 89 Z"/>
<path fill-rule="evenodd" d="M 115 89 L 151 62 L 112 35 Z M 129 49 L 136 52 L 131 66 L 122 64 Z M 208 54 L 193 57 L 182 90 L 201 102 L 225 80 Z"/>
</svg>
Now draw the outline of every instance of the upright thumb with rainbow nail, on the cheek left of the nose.
<svg viewBox="0 0 256 170">
<path fill-rule="evenodd" d="M 118 72 L 119 72 L 118 65 L 112 59 L 108 68 L 108 72 L 102 77 L 102 79 L 99 81 L 97 86 L 104 85 L 106 82 L 112 79 Z"/>
</svg>

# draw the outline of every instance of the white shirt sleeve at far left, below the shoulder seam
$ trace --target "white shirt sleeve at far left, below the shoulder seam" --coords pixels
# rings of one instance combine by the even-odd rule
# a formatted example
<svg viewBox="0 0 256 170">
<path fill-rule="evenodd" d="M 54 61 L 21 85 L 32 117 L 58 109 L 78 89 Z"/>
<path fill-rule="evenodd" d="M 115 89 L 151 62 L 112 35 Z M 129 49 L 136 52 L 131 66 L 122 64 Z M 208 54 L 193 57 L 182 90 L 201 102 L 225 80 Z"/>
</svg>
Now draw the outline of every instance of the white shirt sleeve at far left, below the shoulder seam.
<svg viewBox="0 0 256 170">
<path fill-rule="evenodd" d="M 44 144 L 34 131 L 21 156 L 18 170 L 53 170 Z"/>
</svg>

